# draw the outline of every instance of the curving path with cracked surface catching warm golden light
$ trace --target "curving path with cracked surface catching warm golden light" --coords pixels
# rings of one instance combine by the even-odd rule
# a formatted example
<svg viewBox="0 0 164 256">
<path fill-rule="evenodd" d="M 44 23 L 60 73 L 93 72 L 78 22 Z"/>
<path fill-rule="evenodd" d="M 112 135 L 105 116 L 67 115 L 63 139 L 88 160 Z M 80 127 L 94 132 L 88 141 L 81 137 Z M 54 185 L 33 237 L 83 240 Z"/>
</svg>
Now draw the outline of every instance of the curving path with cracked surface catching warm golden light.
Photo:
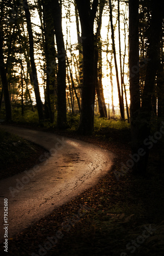
<svg viewBox="0 0 164 256">
<path fill-rule="evenodd" d="M 43 146 L 50 153 L 40 164 L 0 181 L 1 233 L 4 242 L 4 199 L 8 199 L 9 238 L 72 200 L 108 173 L 114 154 L 95 145 L 21 127 L 1 129 Z"/>
</svg>

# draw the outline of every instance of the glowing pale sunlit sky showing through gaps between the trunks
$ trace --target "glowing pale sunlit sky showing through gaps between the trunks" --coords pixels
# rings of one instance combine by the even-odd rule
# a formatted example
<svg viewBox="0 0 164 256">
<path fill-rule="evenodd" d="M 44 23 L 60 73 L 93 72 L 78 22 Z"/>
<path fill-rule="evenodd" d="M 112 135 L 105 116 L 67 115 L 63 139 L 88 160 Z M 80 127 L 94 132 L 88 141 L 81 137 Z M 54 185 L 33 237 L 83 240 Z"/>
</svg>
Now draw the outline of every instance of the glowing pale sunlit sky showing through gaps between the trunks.
<svg viewBox="0 0 164 256">
<path fill-rule="evenodd" d="M 120 7 L 121 8 L 121 7 Z M 121 11 L 121 10 L 120 10 Z M 65 16 L 66 11 L 64 9 L 62 9 L 62 14 L 63 16 Z M 106 103 L 106 107 L 107 104 L 110 103 L 110 109 L 112 108 L 112 92 L 111 92 L 111 82 L 110 82 L 110 70 L 108 69 L 108 74 L 106 74 L 106 45 L 103 46 L 103 42 L 107 40 L 107 25 L 108 25 L 108 20 L 109 20 L 109 16 L 103 15 L 102 17 L 102 28 L 101 28 L 101 37 L 102 37 L 102 85 L 103 85 L 103 93 L 104 93 L 104 98 L 105 98 L 105 103 Z M 69 24 L 69 20 L 67 20 L 67 24 L 65 22 L 65 19 L 62 19 L 62 28 L 63 28 L 63 35 L 64 35 L 64 41 L 65 41 L 65 45 L 66 45 L 66 32 L 67 32 L 67 27 L 68 29 L 70 28 L 70 36 L 71 36 L 71 42 L 68 41 L 68 44 L 71 44 L 72 46 L 74 46 L 75 44 L 77 44 L 77 33 L 76 33 L 76 19 L 75 19 L 75 12 L 74 12 L 74 6 L 72 5 L 71 8 L 71 17 L 70 17 L 70 21 L 71 23 Z M 40 19 L 39 19 L 39 15 L 38 12 L 36 11 L 36 16 L 32 17 L 32 22 L 38 26 L 40 26 Z M 115 18 L 114 18 L 114 24 L 116 23 Z M 79 23 L 80 25 L 80 23 Z M 39 27 L 36 27 L 35 30 L 40 31 Z M 115 37 L 118 37 L 118 28 L 116 27 L 115 30 Z M 109 31 L 108 34 L 109 37 L 109 49 L 111 50 L 112 48 L 112 39 L 111 39 L 111 29 Z M 68 38 L 69 40 L 69 38 Z M 128 40 L 128 38 L 127 38 Z M 123 33 L 121 34 L 121 43 L 122 43 L 122 49 L 124 48 L 124 35 Z M 128 44 L 128 41 L 126 42 Z M 118 40 L 115 40 L 115 44 L 116 44 L 116 52 L 117 52 L 117 63 L 118 63 L 118 72 L 119 72 L 119 80 L 120 80 L 120 61 L 119 61 L 119 45 L 118 45 Z M 77 52 L 77 51 L 76 51 Z M 78 53 L 78 52 L 77 52 Z M 69 55 L 69 52 L 68 52 Z M 108 59 L 111 58 L 110 56 L 111 54 L 108 54 Z M 125 63 L 127 62 L 127 58 Z M 119 99 L 118 99 L 118 90 L 117 90 L 117 81 L 116 81 L 116 72 L 115 72 L 115 63 L 114 63 L 114 58 L 113 58 L 113 86 L 114 86 L 114 91 L 113 91 L 113 96 L 114 96 L 114 105 L 115 107 L 119 107 Z M 125 66 L 125 73 L 127 72 L 127 67 Z M 44 88 L 43 88 L 43 81 L 41 78 L 41 73 L 40 71 L 38 71 L 38 80 L 39 80 L 39 84 L 40 84 L 40 95 L 41 95 L 41 99 L 44 102 Z M 128 84 L 128 78 L 125 76 L 125 84 Z M 120 84 L 121 87 L 121 84 Z M 126 90 L 127 90 L 127 86 L 126 86 Z M 128 104 L 130 104 L 130 96 L 129 96 L 129 89 L 127 90 L 127 101 Z M 33 92 L 33 100 L 35 101 L 35 94 Z"/>
</svg>

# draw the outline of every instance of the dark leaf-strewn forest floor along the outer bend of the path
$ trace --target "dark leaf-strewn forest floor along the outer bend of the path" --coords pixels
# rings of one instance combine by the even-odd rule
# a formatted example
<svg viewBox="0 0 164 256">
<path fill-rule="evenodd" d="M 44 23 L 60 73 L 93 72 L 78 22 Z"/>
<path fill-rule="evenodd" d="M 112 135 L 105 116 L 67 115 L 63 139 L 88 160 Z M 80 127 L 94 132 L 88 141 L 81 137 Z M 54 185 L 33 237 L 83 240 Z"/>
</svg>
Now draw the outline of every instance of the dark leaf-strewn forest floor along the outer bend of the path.
<svg viewBox="0 0 164 256">
<path fill-rule="evenodd" d="M 8 254 L 163 255 L 164 177 L 158 164 L 158 145 L 150 152 L 146 178 L 134 177 L 130 169 L 118 177 L 116 171 L 130 159 L 129 130 L 101 129 L 87 137 L 71 131 L 56 133 L 112 151 L 117 155 L 115 164 L 96 186 L 11 239 Z M 34 164 L 35 159 L 39 161 L 39 156 L 33 157 Z M 11 166 L 9 163 L 6 173 Z M 24 161 L 17 166 L 17 172 L 24 170 Z"/>
</svg>

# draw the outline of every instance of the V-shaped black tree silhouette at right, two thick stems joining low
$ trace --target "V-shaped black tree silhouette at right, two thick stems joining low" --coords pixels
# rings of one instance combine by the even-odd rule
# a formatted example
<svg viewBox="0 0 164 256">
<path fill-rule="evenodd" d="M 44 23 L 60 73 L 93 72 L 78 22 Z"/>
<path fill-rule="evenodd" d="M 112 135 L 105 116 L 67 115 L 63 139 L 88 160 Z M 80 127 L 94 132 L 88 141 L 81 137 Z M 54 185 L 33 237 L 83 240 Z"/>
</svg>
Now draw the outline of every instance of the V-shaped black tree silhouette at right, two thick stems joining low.
<svg viewBox="0 0 164 256">
<path fill-rule="evenodd" d="M 149 61 L 143 87 L 142 105 L 139 76 L 139 1 L 129 0 L 129 72 L 130 72 L 130 114 L 132 154 L 143 151 L 134 163 L 133 172 L 145 176 L 149 157 L 147 139 L 150 136 L 153 114 L 152 100 L 157 71 L 160 70 L 160 40 L 162 31 L 163 3 L 150 1 L 149 29 L 147 33 Z M 153 36 L 152 36 L 153 35 Z"/>
</svg>

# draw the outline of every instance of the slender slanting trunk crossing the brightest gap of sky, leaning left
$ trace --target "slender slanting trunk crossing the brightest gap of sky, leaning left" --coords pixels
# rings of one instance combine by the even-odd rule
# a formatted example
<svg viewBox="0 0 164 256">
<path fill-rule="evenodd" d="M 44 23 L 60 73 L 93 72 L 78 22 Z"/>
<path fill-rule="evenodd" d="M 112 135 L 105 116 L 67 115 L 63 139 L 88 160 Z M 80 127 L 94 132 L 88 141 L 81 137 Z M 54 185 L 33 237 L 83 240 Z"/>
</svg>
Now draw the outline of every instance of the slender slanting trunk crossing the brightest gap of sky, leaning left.
<svg viewBox="0 0 164 256">
<path fill-rule="evenodd" d="M 114 60 L 115 60 L 115 69 L 116 69 L 116 79 L 117 79 L 117 88 L 118 88 L 118 96 L 119 96 L 120 113 L 121 113 L 121 118 L 124 120 L 125 117 L 124 117 L 123 102 L 122 102 L 121 92 L 120 92 L 120 83 L 119 83 L 119 75 L 118 75 L 118 67 L 117 67 L 117 59 L 116 59 L 115 36 L 114 36 L 111 0 L 109 0 L 109 3 L 110 3 L 110 21 L 111 21 L 111 30 L 112 30 L 112 48 L 113 48 Z"/>
</svg>

